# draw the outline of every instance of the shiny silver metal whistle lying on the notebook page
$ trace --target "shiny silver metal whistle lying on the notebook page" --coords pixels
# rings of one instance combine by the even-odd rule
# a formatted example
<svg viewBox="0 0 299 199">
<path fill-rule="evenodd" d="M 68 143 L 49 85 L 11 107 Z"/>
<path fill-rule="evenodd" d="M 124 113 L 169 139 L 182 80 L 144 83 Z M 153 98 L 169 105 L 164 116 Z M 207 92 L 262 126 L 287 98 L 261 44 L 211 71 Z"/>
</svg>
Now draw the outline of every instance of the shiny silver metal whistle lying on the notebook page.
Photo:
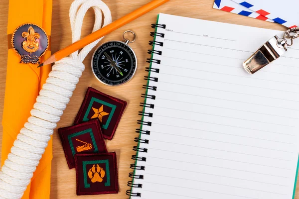
<svg viewBox="0 0 299 199">
<path fill-rule="evenodd" d="M 275 35 L 243 62 L 243 67 L 248 73 L 254 74 L 287 52 L 286 47 L 286 40 Z"/>
</svg>

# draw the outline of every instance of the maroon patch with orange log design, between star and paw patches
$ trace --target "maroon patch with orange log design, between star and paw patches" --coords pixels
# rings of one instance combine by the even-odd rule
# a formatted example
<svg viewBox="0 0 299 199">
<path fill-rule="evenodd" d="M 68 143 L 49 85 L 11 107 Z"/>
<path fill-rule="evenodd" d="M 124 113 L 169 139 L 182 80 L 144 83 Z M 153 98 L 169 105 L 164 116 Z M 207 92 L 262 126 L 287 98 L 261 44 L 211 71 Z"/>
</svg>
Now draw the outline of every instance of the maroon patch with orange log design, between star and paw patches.
<svg viewBox="0 0 299 199">
<path fill-rule="evenodd" d="M 77 153 L 107 153 L 100 126 L 100 122 L 94 119 L 58 129 L 65 158 L 70 169 L 75 167 L 74 156 Z"/>
</svg>

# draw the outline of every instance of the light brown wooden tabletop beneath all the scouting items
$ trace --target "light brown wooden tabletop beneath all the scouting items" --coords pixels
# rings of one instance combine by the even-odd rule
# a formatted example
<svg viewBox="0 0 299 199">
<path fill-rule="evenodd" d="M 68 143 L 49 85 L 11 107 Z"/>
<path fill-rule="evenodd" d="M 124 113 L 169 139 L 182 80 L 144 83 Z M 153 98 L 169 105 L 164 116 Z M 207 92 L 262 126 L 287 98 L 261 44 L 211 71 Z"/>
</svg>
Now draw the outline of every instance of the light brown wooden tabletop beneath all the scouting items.
<svg viewBox="0 0 299 199">
<path fill-rule="evenodd" d="M 69 23 L 69 7 L 73 0 L 53 0 L 53 17 L 52 17 L 52 52 L 69 45 L 71 43 L 71 28 Z M 118 19 L 125 14 L 135 10 L 136 8 L 149 2 L 149 0 L 104 0 L 112 12 L 113 20 Z M 64 152 L 61 146 L 57 130 L 53 135 L 53 161 L 52 161 L 52 177 L 51 177 L 51 199 L 125 199 L 126 190 L 128 190 L 127 182 L 130 181 L 128 177 L 130 164 L 134 161 L 131 156 L 135 154 L 132 147 L 136 145 L 134 137 L 138 134 L 135 129 L 139 127 L 136 123 L 140 116 L 138 111 L 142 110 L 139 103 L 143 101 L 140 98 L 144 93 L 142 85 L 146 84 L 144 76 L 147 75 L 145 67 L 149 64 L 146 58 L 149 58 L 147 50 L 149 49 L 148 41 L 152 39 L 149 32 L 152 31 L 150 23 L 156 21 L 156 16 L 159 12 L 175 14 L 180 16 L 187 16 L 199 19 L 214 20 L 227 23 L 235 23 L 241 25 L 264 27 L 278 30 L 285 30 L 282 25 L 265 22 L 258 19 L 252 19 L 237 14 L 227 13 L 213 9 L 214 0 L 170 0 L 164 5 L 150 11 L 148 14 L 141 16 L 135 21 L 125 25 L 124 27 L 110 33 L 102 41 L 122 40 L 122 33 L 125 30 L 133 30 L 138 35 L 136 42 L 130 44 L 136 52 L 138 58 L 138 70 L 133 80 L 123 86 L 109 87 L 101 84 L 92 74 L 90 67 L 90 60 L 92 53 L 90 53 L 84 60 L 86 66 L 85 72 L 77 85 L 74 95 L 71 98 L 66 110 L 64 111 L 58 127 L 72 125 L 74 118 L 79 110 L 79 107 L 84 98 L 87 87 L 91 86 L 108 95 L 128 101 L 128 106 L 115 133 L 113 140 L 106 141 L 108 151 L 116 151 L 118 156 L 119 168 L 119 185 L 120 193 L 118 195 L 101 195 L 101 196 L 76 196 L 76 177 L 75 169 L 69 170 L 66 164 Z M 6 74 L 6 59 L 7 59 L 7 37 L 6 24 L 8 13 L 8 0 L 1 0 L 0 3 L 0 120 L 2 118 L 4 90 L 5 90 L 5 74 Z M 89 10 L 84 19 L 82 34 L 83 36 L 89 34 L 94 23 L 93 10 Z M 221 30 L 219 30 L 221 31 Z M 254 39 L 254 38 L 247 38 Z M 2 132 L 0 126 L 0 132 Z M 1 139 L 1 136 L 0 136 Z M 297 189 L 297 193 L 299 189 Z M 299 199 L 297 194 L 296 199 Z"/>
</svg>

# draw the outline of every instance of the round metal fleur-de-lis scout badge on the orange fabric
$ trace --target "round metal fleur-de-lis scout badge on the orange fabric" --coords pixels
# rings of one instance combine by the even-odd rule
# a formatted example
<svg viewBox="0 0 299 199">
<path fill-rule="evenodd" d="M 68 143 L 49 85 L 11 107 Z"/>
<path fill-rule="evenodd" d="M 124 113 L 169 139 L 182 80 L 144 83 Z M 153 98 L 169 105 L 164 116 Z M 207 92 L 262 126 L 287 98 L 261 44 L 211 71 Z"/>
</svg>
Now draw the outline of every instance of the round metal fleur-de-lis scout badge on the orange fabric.
<svg viewBox="0 0 299 199">
<path fill-rule="evenodd" d="M 20 63 L 40 64 L 39 58 L 47 51 L 49 39 L 41 27 L 26 23 L 15 29 L 11 44 L 21 57 Z"/>
</svg>

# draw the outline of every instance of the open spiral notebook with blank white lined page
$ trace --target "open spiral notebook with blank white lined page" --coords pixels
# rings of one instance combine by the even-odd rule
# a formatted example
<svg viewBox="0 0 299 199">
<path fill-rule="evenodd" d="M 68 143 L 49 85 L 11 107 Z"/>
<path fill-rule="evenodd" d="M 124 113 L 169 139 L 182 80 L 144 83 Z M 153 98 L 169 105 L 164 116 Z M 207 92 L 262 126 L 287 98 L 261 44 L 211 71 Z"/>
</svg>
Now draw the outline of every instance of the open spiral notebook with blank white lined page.
<svg viewBox="0 0 299 199">
<path fill-rule="evenodd" d="M 127 195 L 294 199 L 299 43 L 250 75 L 243 61 L 283 32 L 168 14 L 152 27 Z"/>
</svg>

